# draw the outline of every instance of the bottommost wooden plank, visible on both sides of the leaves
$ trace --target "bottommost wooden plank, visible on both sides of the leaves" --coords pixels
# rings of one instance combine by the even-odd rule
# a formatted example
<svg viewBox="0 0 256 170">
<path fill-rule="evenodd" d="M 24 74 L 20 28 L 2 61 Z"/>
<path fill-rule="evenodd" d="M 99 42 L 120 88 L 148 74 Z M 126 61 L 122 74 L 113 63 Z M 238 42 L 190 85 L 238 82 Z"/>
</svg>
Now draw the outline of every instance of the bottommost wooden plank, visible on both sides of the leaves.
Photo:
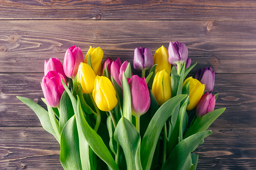
<svg viewBox="0 0 256 170">
<path fill-rule="evenodd" d="M 256 128 L 210 127 L 194 153 L 197 169 L 252 169 L 256 167 Z M 59 144 L 41 127 L 0 127 L 0 169 L 62 169 Z"/>
</svg>

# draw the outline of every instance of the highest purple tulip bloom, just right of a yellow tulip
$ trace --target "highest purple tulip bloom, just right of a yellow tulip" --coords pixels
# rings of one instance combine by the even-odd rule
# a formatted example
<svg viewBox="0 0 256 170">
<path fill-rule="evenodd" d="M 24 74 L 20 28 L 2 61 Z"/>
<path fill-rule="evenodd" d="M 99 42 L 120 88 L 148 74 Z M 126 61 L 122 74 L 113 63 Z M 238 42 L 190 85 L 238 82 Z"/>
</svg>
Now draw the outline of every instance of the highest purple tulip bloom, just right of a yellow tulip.
<svg viewBox="0 0 256 170">
<path fill-rule="evenodd" d="M 173 65 L 177 65 L 178 63 L 182 64 L 183 61 L 187 61 L 188 59 L 188 48 L 184 43 L 170 42 L 168 47 L 168 54 L 169 54 L 169 63 Z"/>
</svg>

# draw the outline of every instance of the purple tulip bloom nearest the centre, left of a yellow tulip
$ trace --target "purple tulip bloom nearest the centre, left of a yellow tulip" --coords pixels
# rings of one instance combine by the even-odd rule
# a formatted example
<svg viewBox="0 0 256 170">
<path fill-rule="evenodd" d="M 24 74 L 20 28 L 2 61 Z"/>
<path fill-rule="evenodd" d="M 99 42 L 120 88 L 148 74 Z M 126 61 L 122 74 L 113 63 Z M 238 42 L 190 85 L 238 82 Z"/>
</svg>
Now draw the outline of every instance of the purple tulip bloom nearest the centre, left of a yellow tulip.
<svg viewBox="0 0 256 170">
<path fill-rule="evenodd" d="M 147 70 L 153 67 L 153 55 L 148 48 L 136 48 L 134 50 L 133 67 L 136 70 Z"/>
</svg>

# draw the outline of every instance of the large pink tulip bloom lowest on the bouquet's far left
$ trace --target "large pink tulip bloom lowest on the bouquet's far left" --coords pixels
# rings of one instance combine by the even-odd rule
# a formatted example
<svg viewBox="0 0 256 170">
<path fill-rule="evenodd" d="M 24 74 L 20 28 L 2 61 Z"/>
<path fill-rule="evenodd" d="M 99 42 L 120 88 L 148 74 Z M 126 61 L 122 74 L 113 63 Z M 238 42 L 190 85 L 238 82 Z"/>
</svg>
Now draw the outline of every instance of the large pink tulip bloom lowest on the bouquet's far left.
<svg viewBox="0 0 256 170">
<path fill-rule="evenodd" d="M 61 83 L 61 78 L 63 81 L 65 80 L 61 73 L 49 71 L 42 79 L 44 98 L 51 107 L 59 107 L 60 98 L 65 90 Z"/>
</svg>

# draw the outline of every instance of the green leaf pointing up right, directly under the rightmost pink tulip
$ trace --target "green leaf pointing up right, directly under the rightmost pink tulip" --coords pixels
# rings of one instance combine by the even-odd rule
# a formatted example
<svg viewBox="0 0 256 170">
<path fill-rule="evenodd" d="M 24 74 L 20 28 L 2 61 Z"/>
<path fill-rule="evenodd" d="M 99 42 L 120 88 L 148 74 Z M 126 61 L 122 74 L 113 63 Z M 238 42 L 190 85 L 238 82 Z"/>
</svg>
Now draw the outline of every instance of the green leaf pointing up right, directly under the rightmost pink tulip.
<svg viewBox="0 0 256 170">
<path fill-rule="evenodd" d="M 220 108 L 213 110 L 201 118 L 196 118 L 193 125 L 189 127 L 188 131 L 185 133 L 184 138 L 187 138 L 195 133 L 202 132 L 208 129 L 212 122 L 217 119 L 226 108 Z"/>
</svg>

